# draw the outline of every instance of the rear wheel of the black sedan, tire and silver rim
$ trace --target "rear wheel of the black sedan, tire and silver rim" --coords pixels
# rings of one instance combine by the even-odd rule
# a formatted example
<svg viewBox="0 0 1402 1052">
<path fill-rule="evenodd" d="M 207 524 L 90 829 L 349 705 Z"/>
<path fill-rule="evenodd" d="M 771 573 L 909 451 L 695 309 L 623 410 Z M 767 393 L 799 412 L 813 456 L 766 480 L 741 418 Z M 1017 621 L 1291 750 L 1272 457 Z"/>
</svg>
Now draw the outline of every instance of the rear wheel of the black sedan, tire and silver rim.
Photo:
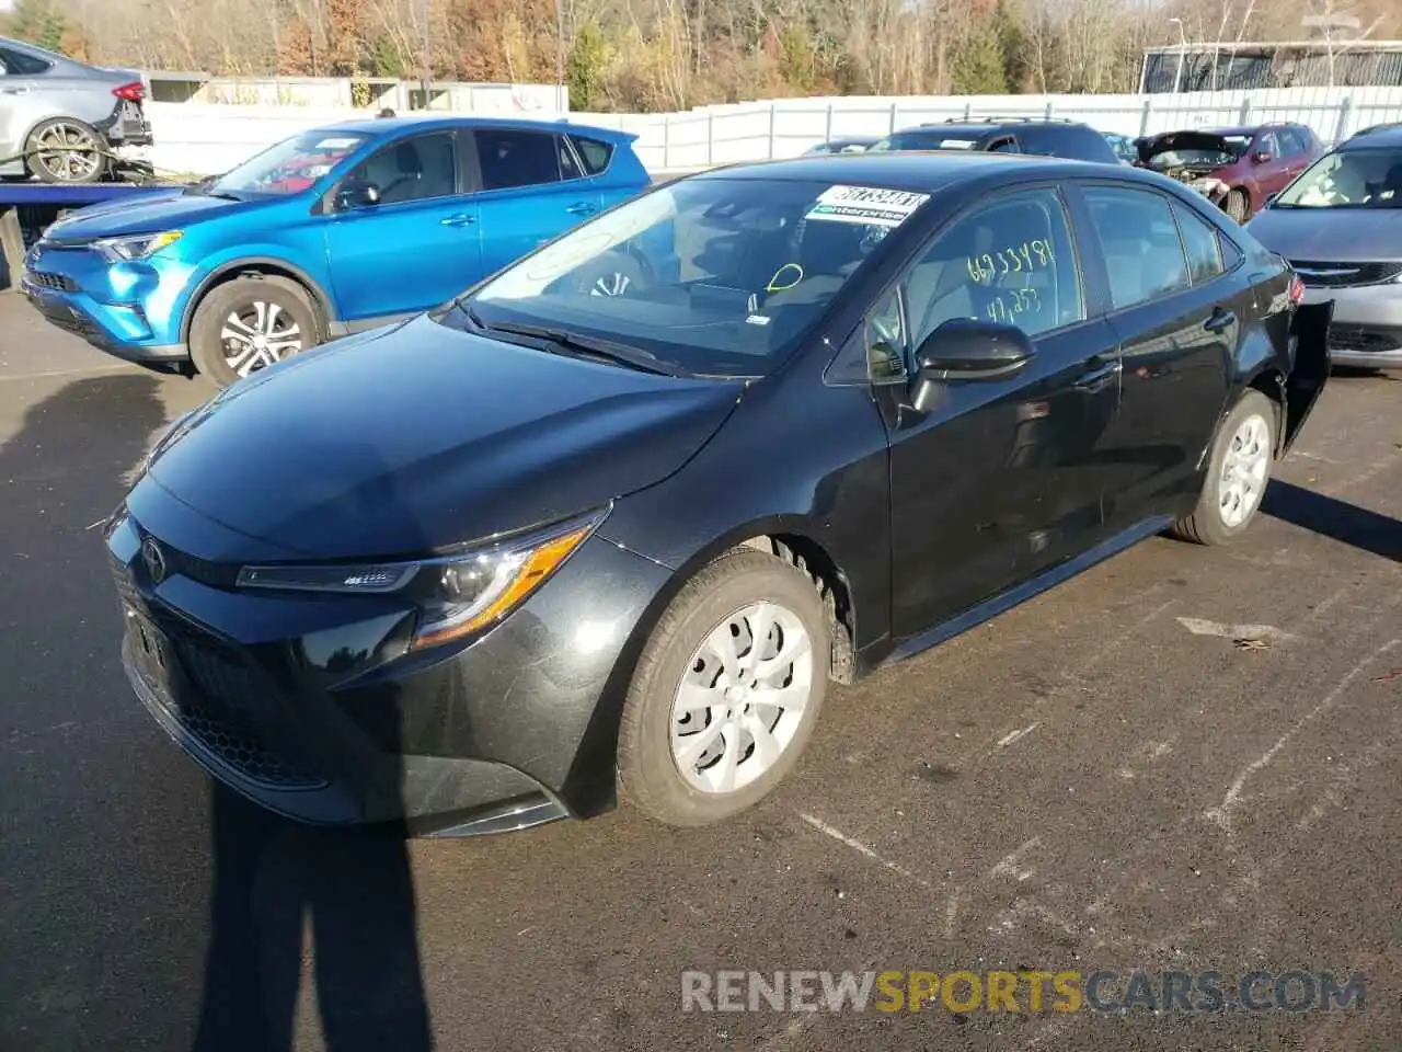
<svg viewBox="0 0 1402 1052">
<path fill-rule="evenodd" d="M 1248 390 L 1223 419 L 1207 461 L 1207 478 L 1192 515 L 1173 536 L 1195 544 L 1231 544 L 1256 519 L 1276 450 L 1276 404 Z"/>
</svg>

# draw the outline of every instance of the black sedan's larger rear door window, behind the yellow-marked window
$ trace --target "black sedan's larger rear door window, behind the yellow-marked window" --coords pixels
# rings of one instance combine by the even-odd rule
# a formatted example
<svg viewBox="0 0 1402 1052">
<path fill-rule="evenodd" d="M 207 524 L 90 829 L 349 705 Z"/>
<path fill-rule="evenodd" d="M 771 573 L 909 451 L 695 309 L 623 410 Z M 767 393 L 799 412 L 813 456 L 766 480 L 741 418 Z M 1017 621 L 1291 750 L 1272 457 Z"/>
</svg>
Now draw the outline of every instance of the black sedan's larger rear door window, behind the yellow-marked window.
<svg viewBox="0 0 1402 1052">
<path fill-rule="evenodd" d="M 1187 261 L 1168 198 L 1127 187 L 1087 187 L 1085 201 L 1105 252 L 1116 310 L 1189 286 Z"/>
</svg>

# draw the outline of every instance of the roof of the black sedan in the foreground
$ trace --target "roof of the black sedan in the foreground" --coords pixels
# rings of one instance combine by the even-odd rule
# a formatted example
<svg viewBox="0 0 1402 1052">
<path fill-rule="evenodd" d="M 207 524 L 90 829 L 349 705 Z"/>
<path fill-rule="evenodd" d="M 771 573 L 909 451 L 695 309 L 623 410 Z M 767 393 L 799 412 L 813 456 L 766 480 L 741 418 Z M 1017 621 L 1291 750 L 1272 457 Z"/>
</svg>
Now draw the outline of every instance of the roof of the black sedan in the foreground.
<svg viewBox="0 0 1402 1052">
<path fill-rule="evenodd" d="M 743 178 L 792 180 L 866 185 L 880 189 L 931 192 L 977 180 L 994 182 L 1063 178 L 1074 174 L 1095 178 L 1130 178 L 1161 182 L 1162 177 L 1127 166 L 1044 157 L 1025 153 L 981 153 L 967 150 L 920 150 L 889 153 L 815 154 L 782 161 L 750 161 L 690 175 L 693 180 Z"/>
</svg>

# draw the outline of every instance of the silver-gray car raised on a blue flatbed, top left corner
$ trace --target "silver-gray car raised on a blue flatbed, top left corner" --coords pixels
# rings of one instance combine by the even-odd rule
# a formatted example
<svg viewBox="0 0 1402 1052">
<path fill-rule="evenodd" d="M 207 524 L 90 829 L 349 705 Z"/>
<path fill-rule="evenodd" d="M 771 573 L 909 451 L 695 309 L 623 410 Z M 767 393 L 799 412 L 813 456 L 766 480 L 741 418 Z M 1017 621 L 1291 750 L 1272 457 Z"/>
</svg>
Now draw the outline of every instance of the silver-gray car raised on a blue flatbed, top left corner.
<svg viewBox="0 0 1402 1052">
<path fill-rule="evenodd" d="M 0 36 L 0 175 L 97 182 L 111 154 L 151 143 L 146 81 Z"/>
</svg>

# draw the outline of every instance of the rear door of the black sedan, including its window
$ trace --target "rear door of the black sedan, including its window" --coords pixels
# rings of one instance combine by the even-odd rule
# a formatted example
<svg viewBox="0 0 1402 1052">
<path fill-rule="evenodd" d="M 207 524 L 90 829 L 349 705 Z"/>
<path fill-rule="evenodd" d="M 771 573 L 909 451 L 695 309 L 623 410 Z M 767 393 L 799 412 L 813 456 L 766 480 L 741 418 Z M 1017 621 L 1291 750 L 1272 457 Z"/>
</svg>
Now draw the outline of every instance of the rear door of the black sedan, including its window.
<svg viewBox="0 0 1402 1052">
<path fill-rule="evenodd" d="M 1230 247 L 1196 209 L 1148 188 L 1084 188 L 1103 254 L 1123 400 L 1105 436 L 1112 529 L 1175 513 L 1227 401 L 1230 356 L 1251 310 L 1234 303 Z"/>
</svg>

